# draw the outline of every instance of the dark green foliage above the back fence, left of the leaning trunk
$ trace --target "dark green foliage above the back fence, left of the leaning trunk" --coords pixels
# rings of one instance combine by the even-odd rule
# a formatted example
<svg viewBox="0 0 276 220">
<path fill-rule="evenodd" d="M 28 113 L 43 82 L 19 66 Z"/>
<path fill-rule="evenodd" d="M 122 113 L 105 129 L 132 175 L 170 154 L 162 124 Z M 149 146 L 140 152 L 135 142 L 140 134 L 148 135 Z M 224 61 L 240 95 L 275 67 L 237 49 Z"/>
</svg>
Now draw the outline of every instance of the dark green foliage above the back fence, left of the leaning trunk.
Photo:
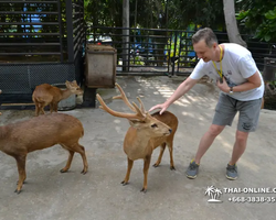
<svg viewBox="0 0 276 220">
<path fill-rule="evenodd" d="M 84 2 L 88 24 L 121 26 L 123 0 Z M 215 30 L 225 26 L 222 0 L 129 0 L 129 11 L 131 28 L 184 30 L 191 23 Z"/>
</svg>

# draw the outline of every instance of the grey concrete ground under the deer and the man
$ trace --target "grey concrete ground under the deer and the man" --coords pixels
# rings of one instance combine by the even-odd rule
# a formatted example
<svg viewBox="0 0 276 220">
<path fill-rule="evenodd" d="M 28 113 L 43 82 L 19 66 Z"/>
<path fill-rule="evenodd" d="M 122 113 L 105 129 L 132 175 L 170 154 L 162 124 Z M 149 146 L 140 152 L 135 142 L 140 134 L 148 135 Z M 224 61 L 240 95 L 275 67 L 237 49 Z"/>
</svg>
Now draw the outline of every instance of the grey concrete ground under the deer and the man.
<svg viewBox="0 0 276 220">
<path fill-rule="evenodd" d="M 129 100 L 139 96 L 146 109 L 163 102 L 183 77 L 117 77 Z M 98 89 L 114 110 L 129 112 L 114 88 Z M 275 194 L 234 194 L 224 188 L 276 188 L 276 112 L 262 110 L 258 130 L 250 135 L 247 150 L 238 163 L 240 178 L 225 178 L 225 167 L 234 143 L 236 118 L 217 136 L 201 161 L 197 179 L 188 179 L 185 169 L 194 156 L 200 138 L 208 130 L 219 91 L 210 82 L 201 82 L 176 101 L 169 111 L 179 119 L 174 136 L 174 163 L 169 168 L 168 150 L 158 168 L 152 166 L 148 175 L 148 191 L 142 188 L 142 161 L 136 161 L 129 185 L 121 186 L 127 169 L 123 141 L 129 127 L 126 119 L 109 116 L 99 108 L 63 111 L 78 118 L 85 129 L 81 144 L 86 148 L 89 169 L 82 175 L 82 158 L 75 155 L 68 173 L 61 174 L 67 153 L 56 145 L 30 153 L 26 162 L 26 183 L 20 195 L 14 194 L 18 172 L 14 158 L 0 153 L 0 219 L 66 219 L 66 220 L 178 220 L 178 219 L 275 219 Z M 33 110 L 2 110 L 0 124 L 8 124 L 33 117 Z M 152 154 L 151 165 L 159 154 Z M 213 186 L 222 191 L 219 200 L 209 202 L 206 188 Z M 256 202 L 233 202 L 233 197 L 251 198 Z M 238 199 L 238 198 L 234 198 Z"/>
</svg>

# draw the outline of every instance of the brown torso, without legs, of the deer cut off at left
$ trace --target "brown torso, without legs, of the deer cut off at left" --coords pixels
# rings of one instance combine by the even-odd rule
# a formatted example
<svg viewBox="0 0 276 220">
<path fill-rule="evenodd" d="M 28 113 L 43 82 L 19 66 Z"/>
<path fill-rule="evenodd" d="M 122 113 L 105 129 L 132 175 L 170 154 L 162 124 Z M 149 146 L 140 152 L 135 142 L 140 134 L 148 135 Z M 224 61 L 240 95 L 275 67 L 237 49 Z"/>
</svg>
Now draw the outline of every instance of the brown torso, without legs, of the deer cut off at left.
<svg viewBox="0 0 276 220">
<path fill-rule="evenodd" d="M 1 128 L 6 147 L 32 152 L 54 144 L 76 143 L 84 134 L 81 121 L 64 113 L 51 113 Z M 6 143 L 3 143 L 6 142 Z"/>
</svg>

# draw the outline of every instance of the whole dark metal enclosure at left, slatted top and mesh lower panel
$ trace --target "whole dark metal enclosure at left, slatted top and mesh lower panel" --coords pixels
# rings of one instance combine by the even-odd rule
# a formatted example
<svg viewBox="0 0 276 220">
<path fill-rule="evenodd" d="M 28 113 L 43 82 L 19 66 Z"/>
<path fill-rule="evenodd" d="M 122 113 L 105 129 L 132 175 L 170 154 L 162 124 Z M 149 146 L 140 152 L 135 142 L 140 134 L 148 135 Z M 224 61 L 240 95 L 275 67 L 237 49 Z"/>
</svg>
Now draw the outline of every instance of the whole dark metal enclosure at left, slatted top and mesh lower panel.
<svg viewBox="0 0 276 220">
<path fill-rule="evenodd" d="M 82 81 L 83 0 L 1 0 L 0 102 L 31 101 L 35 86 Z"/>
</svg>

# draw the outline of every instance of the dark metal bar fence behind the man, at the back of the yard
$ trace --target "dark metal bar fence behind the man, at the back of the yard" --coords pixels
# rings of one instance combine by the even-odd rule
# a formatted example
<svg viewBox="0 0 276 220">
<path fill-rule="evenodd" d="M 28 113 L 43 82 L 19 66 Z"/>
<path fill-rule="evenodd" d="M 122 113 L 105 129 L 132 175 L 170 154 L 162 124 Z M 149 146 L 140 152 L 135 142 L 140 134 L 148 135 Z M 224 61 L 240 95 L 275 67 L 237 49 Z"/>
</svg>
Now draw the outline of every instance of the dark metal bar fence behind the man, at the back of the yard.
<svg viewBox="0 0 276 220">
<path fill-rule="evenodd" d="M 127 37 L 124 30 L 129 31 Z M 117 48 L 117 75 L 189 75 L 199 61 L 191 42 L 195 31 L 87 26 L 86 40 Z M 219 43 L 229 43 L 226 33 L 215 34 Z M 259 70 L 264 57 L 276 58 L 276 43 L 258 42 L 250 35 L 243 38 Z"/>
</svg>

